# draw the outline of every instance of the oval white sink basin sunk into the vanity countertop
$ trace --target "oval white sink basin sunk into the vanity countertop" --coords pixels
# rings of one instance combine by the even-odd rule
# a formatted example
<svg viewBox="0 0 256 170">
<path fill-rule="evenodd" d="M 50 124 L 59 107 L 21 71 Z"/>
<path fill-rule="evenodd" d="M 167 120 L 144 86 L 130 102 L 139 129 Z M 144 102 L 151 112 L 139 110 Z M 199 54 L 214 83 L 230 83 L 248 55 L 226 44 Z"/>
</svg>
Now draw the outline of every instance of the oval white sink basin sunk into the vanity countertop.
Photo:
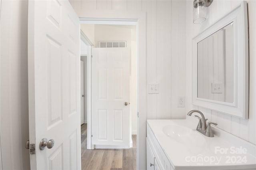
<svg viewBox="0 0 256 170">
<path fill-rule="evenodd" d="M 192 146 L 202 146 L 204 144 L 204 137 L 196 130 L 179 125 L 167 125 L 162 130 L 164 134 L 177 142 Z"/>
</svg>

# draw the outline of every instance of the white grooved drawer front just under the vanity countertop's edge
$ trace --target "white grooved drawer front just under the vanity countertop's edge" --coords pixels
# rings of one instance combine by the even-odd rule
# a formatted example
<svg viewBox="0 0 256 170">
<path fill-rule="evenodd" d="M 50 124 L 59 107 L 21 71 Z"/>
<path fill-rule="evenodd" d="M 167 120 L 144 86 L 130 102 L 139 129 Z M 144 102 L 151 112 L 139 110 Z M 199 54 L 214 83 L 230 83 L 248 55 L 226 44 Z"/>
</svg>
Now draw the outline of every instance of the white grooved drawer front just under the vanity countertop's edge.
<svg viewBox="0 0 256 170">
<path fill-rule="evenodd" d="M 166 154 L 164 153 L 163 149 L 161 148 L 160 144 L 156 140 L 151 128 L 147 124 L 147 138 L 148 142 L 152 146 L 152 150 L 158 162 L 162 164 L 164 170 L 174 170 L 172 168 L 170 161 L 168 160 Z"/>
</svg>

